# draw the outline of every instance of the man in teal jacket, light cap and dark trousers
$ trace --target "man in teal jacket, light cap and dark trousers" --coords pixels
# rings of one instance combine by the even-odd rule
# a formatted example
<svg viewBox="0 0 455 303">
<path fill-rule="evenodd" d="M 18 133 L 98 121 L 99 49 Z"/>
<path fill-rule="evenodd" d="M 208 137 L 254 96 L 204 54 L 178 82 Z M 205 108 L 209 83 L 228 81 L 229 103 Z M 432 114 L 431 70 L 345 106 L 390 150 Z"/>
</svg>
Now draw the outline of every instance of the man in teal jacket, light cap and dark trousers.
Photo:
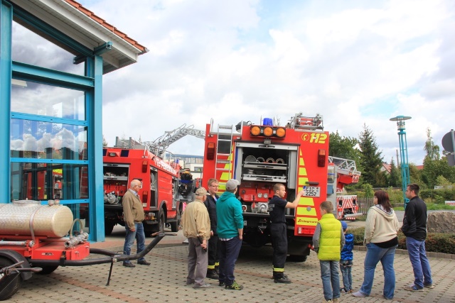
<svg viewBox="0 0 455 303">
<path fill-rule="evenodd" d="M 235 282 L 235 261 L 240 253 L 243 238 L 242 204 L 235 197 L 237 186 L 235 179 L 226 182 L 226 191 L 216 202 L 218 218 L 218 238 L 220 238 L 220 286 L 226 290 L 242 290 L 243 286 Z"/>
</svg>

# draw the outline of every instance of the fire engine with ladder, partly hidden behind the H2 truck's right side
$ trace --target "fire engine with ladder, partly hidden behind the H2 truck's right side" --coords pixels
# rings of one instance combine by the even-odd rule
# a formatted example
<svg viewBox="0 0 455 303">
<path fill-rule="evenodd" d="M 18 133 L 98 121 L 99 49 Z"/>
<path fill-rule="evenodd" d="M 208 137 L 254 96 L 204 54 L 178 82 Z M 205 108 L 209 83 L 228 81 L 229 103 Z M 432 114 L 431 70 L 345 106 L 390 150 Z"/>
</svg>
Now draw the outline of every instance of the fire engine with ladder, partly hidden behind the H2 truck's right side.
<svg viewBox="0 0 455 303">
<path fill-rule="evenodd" d="M 358 213 L 357 195 L 343 195 L 345 185 L 358 183 L 361 172 L 354 160 L 328 157 L 328 192 L 327 199 L 336 209 L 339 220 L 355 220 Z"/>
</svg>

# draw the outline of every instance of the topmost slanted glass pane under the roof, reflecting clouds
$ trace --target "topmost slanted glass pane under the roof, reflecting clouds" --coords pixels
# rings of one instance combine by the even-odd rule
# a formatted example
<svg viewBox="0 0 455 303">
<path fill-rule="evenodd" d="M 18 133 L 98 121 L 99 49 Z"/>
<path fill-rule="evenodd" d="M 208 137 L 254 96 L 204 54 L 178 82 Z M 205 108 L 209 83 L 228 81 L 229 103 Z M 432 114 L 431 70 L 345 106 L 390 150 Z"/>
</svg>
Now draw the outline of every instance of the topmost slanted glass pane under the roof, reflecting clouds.
<svg viewBox="0 0 455 303">
<path fill-rule="evenodd" d="M 34 31 L 38 30 L 33 28 Z M 12 28 L 12 58 L 14 61 L 36 65 L 39 67 L 70 72 L 75 75 L 85 75 L 85 63 L 73 64 L 75 54 L 64 50 L 64 45 L 56 45 L 43 38 L 42 33 L 33 33 L 28 28 L 13 22 Z"/>
</svg>

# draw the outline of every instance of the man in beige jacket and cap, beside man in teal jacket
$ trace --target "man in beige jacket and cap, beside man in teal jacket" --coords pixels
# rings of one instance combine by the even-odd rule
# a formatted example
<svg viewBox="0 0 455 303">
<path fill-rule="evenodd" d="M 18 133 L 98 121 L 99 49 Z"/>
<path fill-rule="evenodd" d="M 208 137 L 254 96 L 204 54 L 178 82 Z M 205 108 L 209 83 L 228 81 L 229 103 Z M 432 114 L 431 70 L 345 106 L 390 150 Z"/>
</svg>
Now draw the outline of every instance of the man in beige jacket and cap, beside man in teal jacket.
<svg viewBox="0 0 455 303">
<path fill-rule="evenodd" d="M 188 206 L 182 215 L 183 236 L 188 238 L 188 277 L 186 285 L 193 288 L 209 288 L 204 282 L 207 275 L 207 241 L 210 238 L 210 219 L 204 205 L 207 190 L 200 187 L 196 190 L 196 200 Z"/>
</svg>

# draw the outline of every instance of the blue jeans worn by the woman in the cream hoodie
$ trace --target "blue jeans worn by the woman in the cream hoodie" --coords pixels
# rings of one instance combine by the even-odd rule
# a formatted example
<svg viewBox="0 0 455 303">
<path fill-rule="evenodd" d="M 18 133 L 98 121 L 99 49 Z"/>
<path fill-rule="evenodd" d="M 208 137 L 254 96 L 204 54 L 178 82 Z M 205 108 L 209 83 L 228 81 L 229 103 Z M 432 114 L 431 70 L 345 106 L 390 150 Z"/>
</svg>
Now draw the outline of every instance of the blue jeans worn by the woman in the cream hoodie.
<svg viewBox="0 0 455 303">
<path fill-rule="evenodd" d="M 397 246 L 391 248 L 380 248 L 375 243 L 367 244 L 367 255 L 365 255 L 363 272 L 363 284 L 360 292 L 370 295 L 375 279 L 375 269 L 378 262 L 381 261 L 382 270 L 384 270 L 384 294 L 385 299 L 392 299 L 395 292 L 395 270 L 393 261 L 395 259 L 395 250 Z"/>
</svg>

